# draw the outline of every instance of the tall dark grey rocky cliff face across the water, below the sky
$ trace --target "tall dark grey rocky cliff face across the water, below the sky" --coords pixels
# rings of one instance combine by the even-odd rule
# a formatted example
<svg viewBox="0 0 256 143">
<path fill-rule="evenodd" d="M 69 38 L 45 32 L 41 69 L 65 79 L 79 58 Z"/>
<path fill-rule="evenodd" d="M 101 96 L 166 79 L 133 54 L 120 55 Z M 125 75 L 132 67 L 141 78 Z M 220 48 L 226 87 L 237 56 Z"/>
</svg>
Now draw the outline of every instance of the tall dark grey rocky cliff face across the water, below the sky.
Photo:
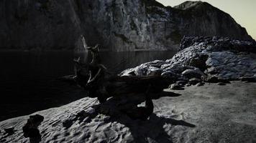
<svg viewBox="0 0 256 143">
<path fill-rule="evenodd" d="M 201 1 L 172 8 L 154 0 L 3 0 L 0 7 L 6 49 L 175 50 L 184 35 L 252 40 L 229 14 Z"/>
</svg>

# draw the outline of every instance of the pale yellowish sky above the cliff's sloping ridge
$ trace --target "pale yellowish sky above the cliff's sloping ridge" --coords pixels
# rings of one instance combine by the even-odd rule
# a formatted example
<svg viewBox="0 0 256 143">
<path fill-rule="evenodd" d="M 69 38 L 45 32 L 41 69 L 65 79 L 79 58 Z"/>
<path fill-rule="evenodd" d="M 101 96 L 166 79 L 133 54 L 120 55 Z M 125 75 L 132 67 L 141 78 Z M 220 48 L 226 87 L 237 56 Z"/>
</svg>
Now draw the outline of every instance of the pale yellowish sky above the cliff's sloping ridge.
<svg viewBox="0 0 256 143">
<path fill-rule="evenodd" d="M 165 6 L 176 6 L 186 0 L 157 0 Z M 191 0 L 195 1 L 195 0 Z M 203 0 L 230 14 L 256 40 L 256 0 Z"/>
</svg>

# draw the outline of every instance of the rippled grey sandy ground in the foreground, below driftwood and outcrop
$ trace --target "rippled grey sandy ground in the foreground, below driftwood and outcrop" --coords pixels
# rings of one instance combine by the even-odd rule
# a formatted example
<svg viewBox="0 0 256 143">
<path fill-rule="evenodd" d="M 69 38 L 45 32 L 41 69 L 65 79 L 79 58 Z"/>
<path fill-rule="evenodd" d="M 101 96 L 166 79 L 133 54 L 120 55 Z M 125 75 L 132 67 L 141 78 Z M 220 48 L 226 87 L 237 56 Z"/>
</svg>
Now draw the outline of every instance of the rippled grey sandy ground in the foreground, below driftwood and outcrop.
<svg viewBox="0 0 256 143">
<path fill-rule="evenodd" d="M 154 114 L 146 122 L 134 121 L 124 114 L 111 117 L 87 114 L 87 117 L 75 119 L 78 112 L 93 113 L 95 104 L 99 104 L 96 99 L 87 97 L 35 114 L 45 117 L 39 127 L 42 142 L 254 143 L 255 87 L 256 83 L 232 82 L 225 86 L 206 84 L 203 87 L 186 87 L 180 91 L 166 89 L 181 95 L 155 99 Z M 0 142 L 29 142 L 22 133 L 22 126 L 28 118 L 24 116 L 0 122 Z M 73 124 L 63 127 L 63 121 L 70 118 Z M 15 133 L 4 134 L 6 127 L 15 127 Z"/>
</svg>

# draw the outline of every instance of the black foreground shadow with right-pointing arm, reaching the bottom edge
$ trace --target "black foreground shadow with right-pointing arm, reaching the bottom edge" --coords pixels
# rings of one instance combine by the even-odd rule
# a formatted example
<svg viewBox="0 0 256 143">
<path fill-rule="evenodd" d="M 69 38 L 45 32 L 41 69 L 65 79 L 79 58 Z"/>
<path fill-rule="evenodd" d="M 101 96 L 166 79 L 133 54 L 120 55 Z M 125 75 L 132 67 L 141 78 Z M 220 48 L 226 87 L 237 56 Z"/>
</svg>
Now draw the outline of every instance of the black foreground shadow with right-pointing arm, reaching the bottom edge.
<svg viewBox="0 0 256 143">
<path fill-rule="evenodd" d="M 184 126 L 184 127 L 196 127 L 194 124 L 185 122 L 183 120 L 169 119 L 165 117 L 158 117 L 156 114 L 152 114 L 147 121 L 132 120 L 129 117 L 122 115 L 123 117 L 116 119 L 111 117 L 109 122 L 119 122 L 129 128 L 132 134 L 134 142 L 161 142 L 171 143 L 172 137 L 165 131 L 165 125 L 170 126 Z"/>
</svg>

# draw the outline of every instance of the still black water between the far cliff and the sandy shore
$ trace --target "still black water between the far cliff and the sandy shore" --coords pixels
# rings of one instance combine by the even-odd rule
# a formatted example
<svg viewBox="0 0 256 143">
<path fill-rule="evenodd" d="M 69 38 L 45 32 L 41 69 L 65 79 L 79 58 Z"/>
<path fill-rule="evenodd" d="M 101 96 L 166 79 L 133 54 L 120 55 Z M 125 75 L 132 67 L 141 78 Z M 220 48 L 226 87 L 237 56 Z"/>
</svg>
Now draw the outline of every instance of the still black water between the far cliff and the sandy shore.
<svg viewBox="0 0 256 143">
<path fill-rule="evenodd" d="M 170 59 L 174 51 L 102 52 L 101 59 L 115 73 L 155 59 Z M 86 53 L 71 51 L 0 52 L 0 121 L 58 107 L 86 97 L 86 92 L 56 80 L 73 74 L 73 59 Z"/>
</svg>

